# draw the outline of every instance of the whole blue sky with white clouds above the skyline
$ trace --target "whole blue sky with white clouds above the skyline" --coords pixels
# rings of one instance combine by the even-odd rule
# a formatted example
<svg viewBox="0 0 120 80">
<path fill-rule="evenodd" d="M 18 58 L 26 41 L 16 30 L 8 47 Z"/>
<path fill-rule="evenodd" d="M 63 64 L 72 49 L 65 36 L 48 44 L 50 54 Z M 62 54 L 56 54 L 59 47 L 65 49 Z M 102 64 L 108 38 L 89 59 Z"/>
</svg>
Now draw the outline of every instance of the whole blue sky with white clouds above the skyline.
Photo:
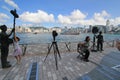
<svg viewBox="0 0 120 80">
<path fill-rule="evenodd" d="M 16 26 L 118 25 L 119 8 L 120 0 L 0 0 L 0 25 L 13 26 L 14 9 Z"/>
</svg>

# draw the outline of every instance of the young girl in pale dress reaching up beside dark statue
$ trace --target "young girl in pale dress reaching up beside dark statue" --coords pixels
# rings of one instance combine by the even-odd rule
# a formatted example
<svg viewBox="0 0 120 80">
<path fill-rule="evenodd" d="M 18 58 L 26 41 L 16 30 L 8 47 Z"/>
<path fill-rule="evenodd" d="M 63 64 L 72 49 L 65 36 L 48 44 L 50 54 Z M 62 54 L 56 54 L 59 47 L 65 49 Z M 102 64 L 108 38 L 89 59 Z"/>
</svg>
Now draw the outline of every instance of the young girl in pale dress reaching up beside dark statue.
<svg viewBox="0 0 120 80">
<path fill-rule="evenodd" d="M 14 33 L 14 39 L 13 39 L 14 53 L 13 53 L 13 56 L 16 58 L 17 64 L 20 64 L 21 54 L 22 54 L 22 50 L 19 46 L 19 41 L 20 41 L 20 38 L 17 37 L 16 34 Z"/>
</svg>

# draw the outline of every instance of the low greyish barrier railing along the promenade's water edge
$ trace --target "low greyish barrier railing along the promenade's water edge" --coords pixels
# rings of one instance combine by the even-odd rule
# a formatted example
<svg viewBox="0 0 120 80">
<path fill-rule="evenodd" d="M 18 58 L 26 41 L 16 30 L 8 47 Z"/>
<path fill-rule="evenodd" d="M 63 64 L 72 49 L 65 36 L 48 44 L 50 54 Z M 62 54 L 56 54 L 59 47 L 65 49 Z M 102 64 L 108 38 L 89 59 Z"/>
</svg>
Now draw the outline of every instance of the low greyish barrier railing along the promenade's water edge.
<svg viewBox="0 0 120 80">
<path fill-rule="evenodd" d="M 117 40 L 111 40 L 111 41 L 104 41 L 103 47 L 116 47 L 116 41 Z M 79 41 L 81 42 L 81 41 Z M 65 52 L 72 52 L 72 51 L 77 51 L 77 44 L 79 42 L 57 42 L 58 44 L 58 49 L 60 53 L 65 53 Z M 97 45 L 97 43 L 95 43 Z M 20 44 L 22 51 L 23 51 L 23 56 L 28 53 L 28 54 L 46 54 L 50 48 L 51 43 L 39 43 L 39 44 Z M 90 46 L 92 46 L 93 43 L 92 41 L 90 42 Z M 12 48 L 11 48 L 12 49 Z M 51 50 L 51 53 L 53 51 Z M 12 53 L 12 51 L 11 51 Z"/>
</svg>

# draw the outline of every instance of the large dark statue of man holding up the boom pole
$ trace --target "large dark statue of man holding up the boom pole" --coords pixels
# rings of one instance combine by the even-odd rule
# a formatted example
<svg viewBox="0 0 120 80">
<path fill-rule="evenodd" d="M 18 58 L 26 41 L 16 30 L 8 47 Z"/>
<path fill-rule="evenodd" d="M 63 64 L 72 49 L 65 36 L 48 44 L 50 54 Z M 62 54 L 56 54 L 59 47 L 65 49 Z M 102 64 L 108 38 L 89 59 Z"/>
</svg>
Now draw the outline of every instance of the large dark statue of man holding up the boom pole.
<svg viewBox="0 0 120 80">
<path fill-rule="evenodd" d="M 10 34 L 7 34 L 7 26 L 2 25 L 0 26 L 0 29 L 2 30 L 0 33 L 0 43 L 1 43 L 1 64 L 2 68 L 9 68 L 11 67 L 10 62 L 7 61 L 8 52 L 9 52 L 9 44 L 12 43 L 12 39 L 9 37 L 14 32 L 14 28 L 10 32 Z"/>
</svg>

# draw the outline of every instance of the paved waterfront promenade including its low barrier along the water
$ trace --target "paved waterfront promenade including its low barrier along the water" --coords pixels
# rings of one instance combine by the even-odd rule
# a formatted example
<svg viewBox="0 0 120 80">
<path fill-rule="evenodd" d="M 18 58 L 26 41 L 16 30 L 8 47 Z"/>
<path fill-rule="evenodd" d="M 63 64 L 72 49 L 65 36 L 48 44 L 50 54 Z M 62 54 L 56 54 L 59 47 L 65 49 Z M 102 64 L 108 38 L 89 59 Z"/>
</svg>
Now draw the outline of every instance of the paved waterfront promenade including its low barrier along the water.
<svg viewBox="0 0 120 80">
<path fill-rule="evenodd" d="M 10 46 L 8 60 L 12 67 L 2 69 L 0 63 L 0 80 L 27 80 L 33 62 L 38 64 L 38 80 L 120 80 L 120 51 L 114 46 L 105 44 L 103 52 L 91 52 L 90 61 L 84 62 L 76 58 L 77 43 L 68 46 L 70 51 L 64 43 L 60 43 L 58 47 L 62 59 L 58 58 L 58 70 L 53 50 L 44 62 L 48 46 L 50 44 L 27 45 L 21 64 L 16 64 Z"/>
</svg>

